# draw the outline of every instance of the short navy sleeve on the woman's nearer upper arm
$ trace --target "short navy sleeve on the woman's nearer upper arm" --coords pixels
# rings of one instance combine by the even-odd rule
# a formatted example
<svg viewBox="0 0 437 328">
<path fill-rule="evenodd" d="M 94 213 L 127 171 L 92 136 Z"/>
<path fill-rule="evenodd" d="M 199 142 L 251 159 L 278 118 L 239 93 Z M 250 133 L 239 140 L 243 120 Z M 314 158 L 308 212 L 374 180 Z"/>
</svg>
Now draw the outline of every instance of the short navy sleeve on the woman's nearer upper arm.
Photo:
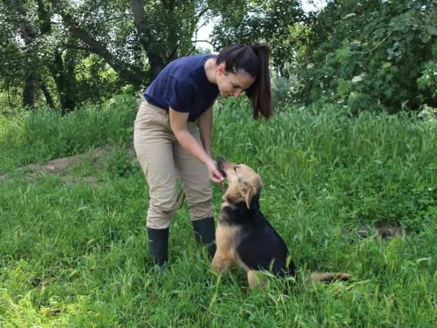
<svg viewBox="0 0 437 328">
<path fill-rule="evenodd" d="M 194 100 L 194 87 L 169 75 L 165 86 L 164 100 L 175 111 L 188 113 Z"/>
</svg>

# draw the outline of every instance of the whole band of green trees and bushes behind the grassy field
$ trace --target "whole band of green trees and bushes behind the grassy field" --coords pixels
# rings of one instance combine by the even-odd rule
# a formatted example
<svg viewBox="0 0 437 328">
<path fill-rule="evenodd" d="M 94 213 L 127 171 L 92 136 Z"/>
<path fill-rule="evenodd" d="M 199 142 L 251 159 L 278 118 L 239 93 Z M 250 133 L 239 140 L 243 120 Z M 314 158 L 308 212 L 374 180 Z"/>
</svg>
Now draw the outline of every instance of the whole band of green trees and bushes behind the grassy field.
<svg viewBox="0 0 437 328">
<path fill-rule="evenodd" d="M 398 112 L 437 107 L 437 0 L 0 1 L 0 111 L 70 111 L 169 61 L 232 43 L 272 48 L 275 108 L 291 101 Z"/>
</svg>

